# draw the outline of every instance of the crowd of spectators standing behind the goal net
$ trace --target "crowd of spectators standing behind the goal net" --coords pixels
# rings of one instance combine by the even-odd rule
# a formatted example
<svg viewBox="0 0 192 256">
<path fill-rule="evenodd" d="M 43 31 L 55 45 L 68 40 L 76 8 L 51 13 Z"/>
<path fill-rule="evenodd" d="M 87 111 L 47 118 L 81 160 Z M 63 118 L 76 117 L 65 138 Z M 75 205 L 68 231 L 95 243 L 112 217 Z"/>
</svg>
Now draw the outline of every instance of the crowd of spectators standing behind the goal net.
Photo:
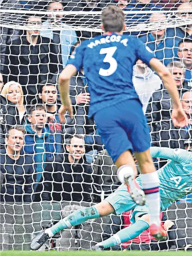
<svg viewBox="0 0 192 256">
<path fill-rule="evenodd" d="M 70 25 L 88 24 L 87 19 L 93 25 L 88 12 L 101 11 L 108 4 L 137 11 L 125 15 L 128 27 L 145 22 L 161 23 L 167 18 L 165 11 L 177 10 L 177 15 L 192 19 L 192 1 L 9 0 L 1 4 L 4 9 L 37 10 L 36 15 L 27 16 L 23 26 L 43 26 L 41 31 L 1 28 L 1 201 L 99 202 L 101 196 L 105 197 L 103 193 L 111 193 L 119 182 L 110 157 L 102 156 L 107 152 L 94 120 L 88 118 L 90 93 L 83 68 L 70 81 L 74 118 L 67 113 L 66 122 L 61 123 L 58 116 L 61 106 L 58 75 L 75 48 L 93 36 L 90 31 L 72 30 Z M 50 13 L 45 20 L 38 15 L 42 9 L 84 11 L 87 15 L 57 14 L 53 18 Z M 99 22 L 97 15 L 94 19 Z M 60 29 L 50 29 L 53 22 Z M 151 131 L 151 145 L 183 149 L 192 146 L 192 24 L 131 34 L 138 36 L 172 73 L 189 119 L 188 127 L 174 127 L 172 101 L 160 77 L 137 60 L 133 83 Z M 165 164 L 163 159 L 159 162 L 158 167 Z"/>
</svg>

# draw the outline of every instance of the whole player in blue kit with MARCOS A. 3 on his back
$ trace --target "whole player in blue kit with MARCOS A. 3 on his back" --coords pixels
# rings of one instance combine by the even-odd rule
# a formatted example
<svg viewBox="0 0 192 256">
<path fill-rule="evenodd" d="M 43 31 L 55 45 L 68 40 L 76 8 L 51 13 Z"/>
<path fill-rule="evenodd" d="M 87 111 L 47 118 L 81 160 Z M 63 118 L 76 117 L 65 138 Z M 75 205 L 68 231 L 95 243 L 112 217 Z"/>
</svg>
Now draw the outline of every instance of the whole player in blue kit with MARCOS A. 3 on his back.
<svg viewBox="0 0 192 256">
<path fill-rule="evenodd" d="M 146 50 L 140 40 L 122 35 L 125 30 L 122 10 L 114 6 L 104 9 L 102 21 L 105 34 L 90 41 L 85 40 L 73 53 L 59 77 L 59 89 L 64 105 L 59 110 L 61 121 L 64 122 L 63 115 L 66 110 L 73 115 L 69 82 L 72 75 L 83 66 L 91 97 L 89 116 L 94 116 L 103 143 L 119 168 L 119 180 L 126 182 L 134 201 L 143 205 L 143 191 L 134 185 L 136 167 L 132 152 L 135 152 L 140 169 L 144 173 L 143 189 L 151 212 L 151 232 L 159 239 L 164 236 L 163 233 L 160 235 L 159 179 L 149 151 L 150 136 L 142 104 L 132 82 L 133 66 L 138 59 L 151 65 L 170 92 L 175 126 L 183 127 L 188 121 L 169 71 Z"/>
</svg>

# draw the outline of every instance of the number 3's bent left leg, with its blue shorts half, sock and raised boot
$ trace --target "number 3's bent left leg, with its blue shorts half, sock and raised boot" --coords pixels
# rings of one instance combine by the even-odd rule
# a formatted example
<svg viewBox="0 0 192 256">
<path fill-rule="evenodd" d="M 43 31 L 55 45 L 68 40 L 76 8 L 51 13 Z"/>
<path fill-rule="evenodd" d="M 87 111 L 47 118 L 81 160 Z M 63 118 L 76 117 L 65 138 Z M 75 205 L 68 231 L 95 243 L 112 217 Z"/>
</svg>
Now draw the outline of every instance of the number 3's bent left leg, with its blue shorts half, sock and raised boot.
<svg viewBox="0 0 192 256">
<path fill-rule="evenodd" d="M 125 116 L 128 113 L 122 113 L 122 110 L 127 110 L 127 106 L 110 106 L 105 110 L 99 110 L 95 116 L 95 122 L 99 135 L 102 137 L 102 141 L 111 156 L 113 163 L 119 168 L 121 173 L 126 173 L 126 179 L 128 186 L 131 188 L 129 192 L 135 202 L 140 205 L 145 204 L 145 195 L 140 187 L 135 185 L 134 176 L 137 173 L 133 156 L 131 151 L 133 150 L 132 143 L 130 142 L 125 128 L 121 125 Z M 118 173 L 119 173 L 118 170 Z M 119 175 L 118 175 L 119 176 Z M 124 180 L 120 180 L 122 183 Z"/>
</svg>

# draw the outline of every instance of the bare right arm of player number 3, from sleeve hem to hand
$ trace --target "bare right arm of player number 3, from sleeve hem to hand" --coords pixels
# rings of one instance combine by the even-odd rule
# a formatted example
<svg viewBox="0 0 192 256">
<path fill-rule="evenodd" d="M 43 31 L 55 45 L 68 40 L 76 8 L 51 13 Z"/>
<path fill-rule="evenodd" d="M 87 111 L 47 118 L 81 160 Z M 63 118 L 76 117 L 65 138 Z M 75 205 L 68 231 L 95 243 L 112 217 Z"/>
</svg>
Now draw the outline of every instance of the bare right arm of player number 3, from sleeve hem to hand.
<svg viewBox="0 0 192 256">
<path fill-rule="evenodd" d="M 172 110 L 172 120 L 173 125 L 177 127 L 188 126 L 188 119 L 186 113 L 183 111 L 179 94 L 177 92 L 177 86 L 175 80 L 172 78 L 169 70 L 156 58 L 152 58 L 149 62 L 151 68 L 157 72 L 160 78 L 163 80 L 163 85 L 168 90 L 172 98 L 173 110 Z"/>
</svg>

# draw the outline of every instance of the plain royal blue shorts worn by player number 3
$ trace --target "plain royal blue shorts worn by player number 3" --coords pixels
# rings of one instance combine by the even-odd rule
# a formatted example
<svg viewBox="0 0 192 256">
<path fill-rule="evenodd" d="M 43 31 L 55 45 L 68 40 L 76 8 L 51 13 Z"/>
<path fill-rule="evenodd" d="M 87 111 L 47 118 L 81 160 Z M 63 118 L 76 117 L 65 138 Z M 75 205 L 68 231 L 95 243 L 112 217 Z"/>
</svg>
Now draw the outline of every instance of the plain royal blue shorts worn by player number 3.
<svg viewBox="0 0 192 256">
<path fill-rule="evenodd" d="M 149 128 L 139 100 L 120 101 L 101 109 L 94 119 L 113 162 L 126 150 L 144 152 L 150 148 Z"/>
</svg>

